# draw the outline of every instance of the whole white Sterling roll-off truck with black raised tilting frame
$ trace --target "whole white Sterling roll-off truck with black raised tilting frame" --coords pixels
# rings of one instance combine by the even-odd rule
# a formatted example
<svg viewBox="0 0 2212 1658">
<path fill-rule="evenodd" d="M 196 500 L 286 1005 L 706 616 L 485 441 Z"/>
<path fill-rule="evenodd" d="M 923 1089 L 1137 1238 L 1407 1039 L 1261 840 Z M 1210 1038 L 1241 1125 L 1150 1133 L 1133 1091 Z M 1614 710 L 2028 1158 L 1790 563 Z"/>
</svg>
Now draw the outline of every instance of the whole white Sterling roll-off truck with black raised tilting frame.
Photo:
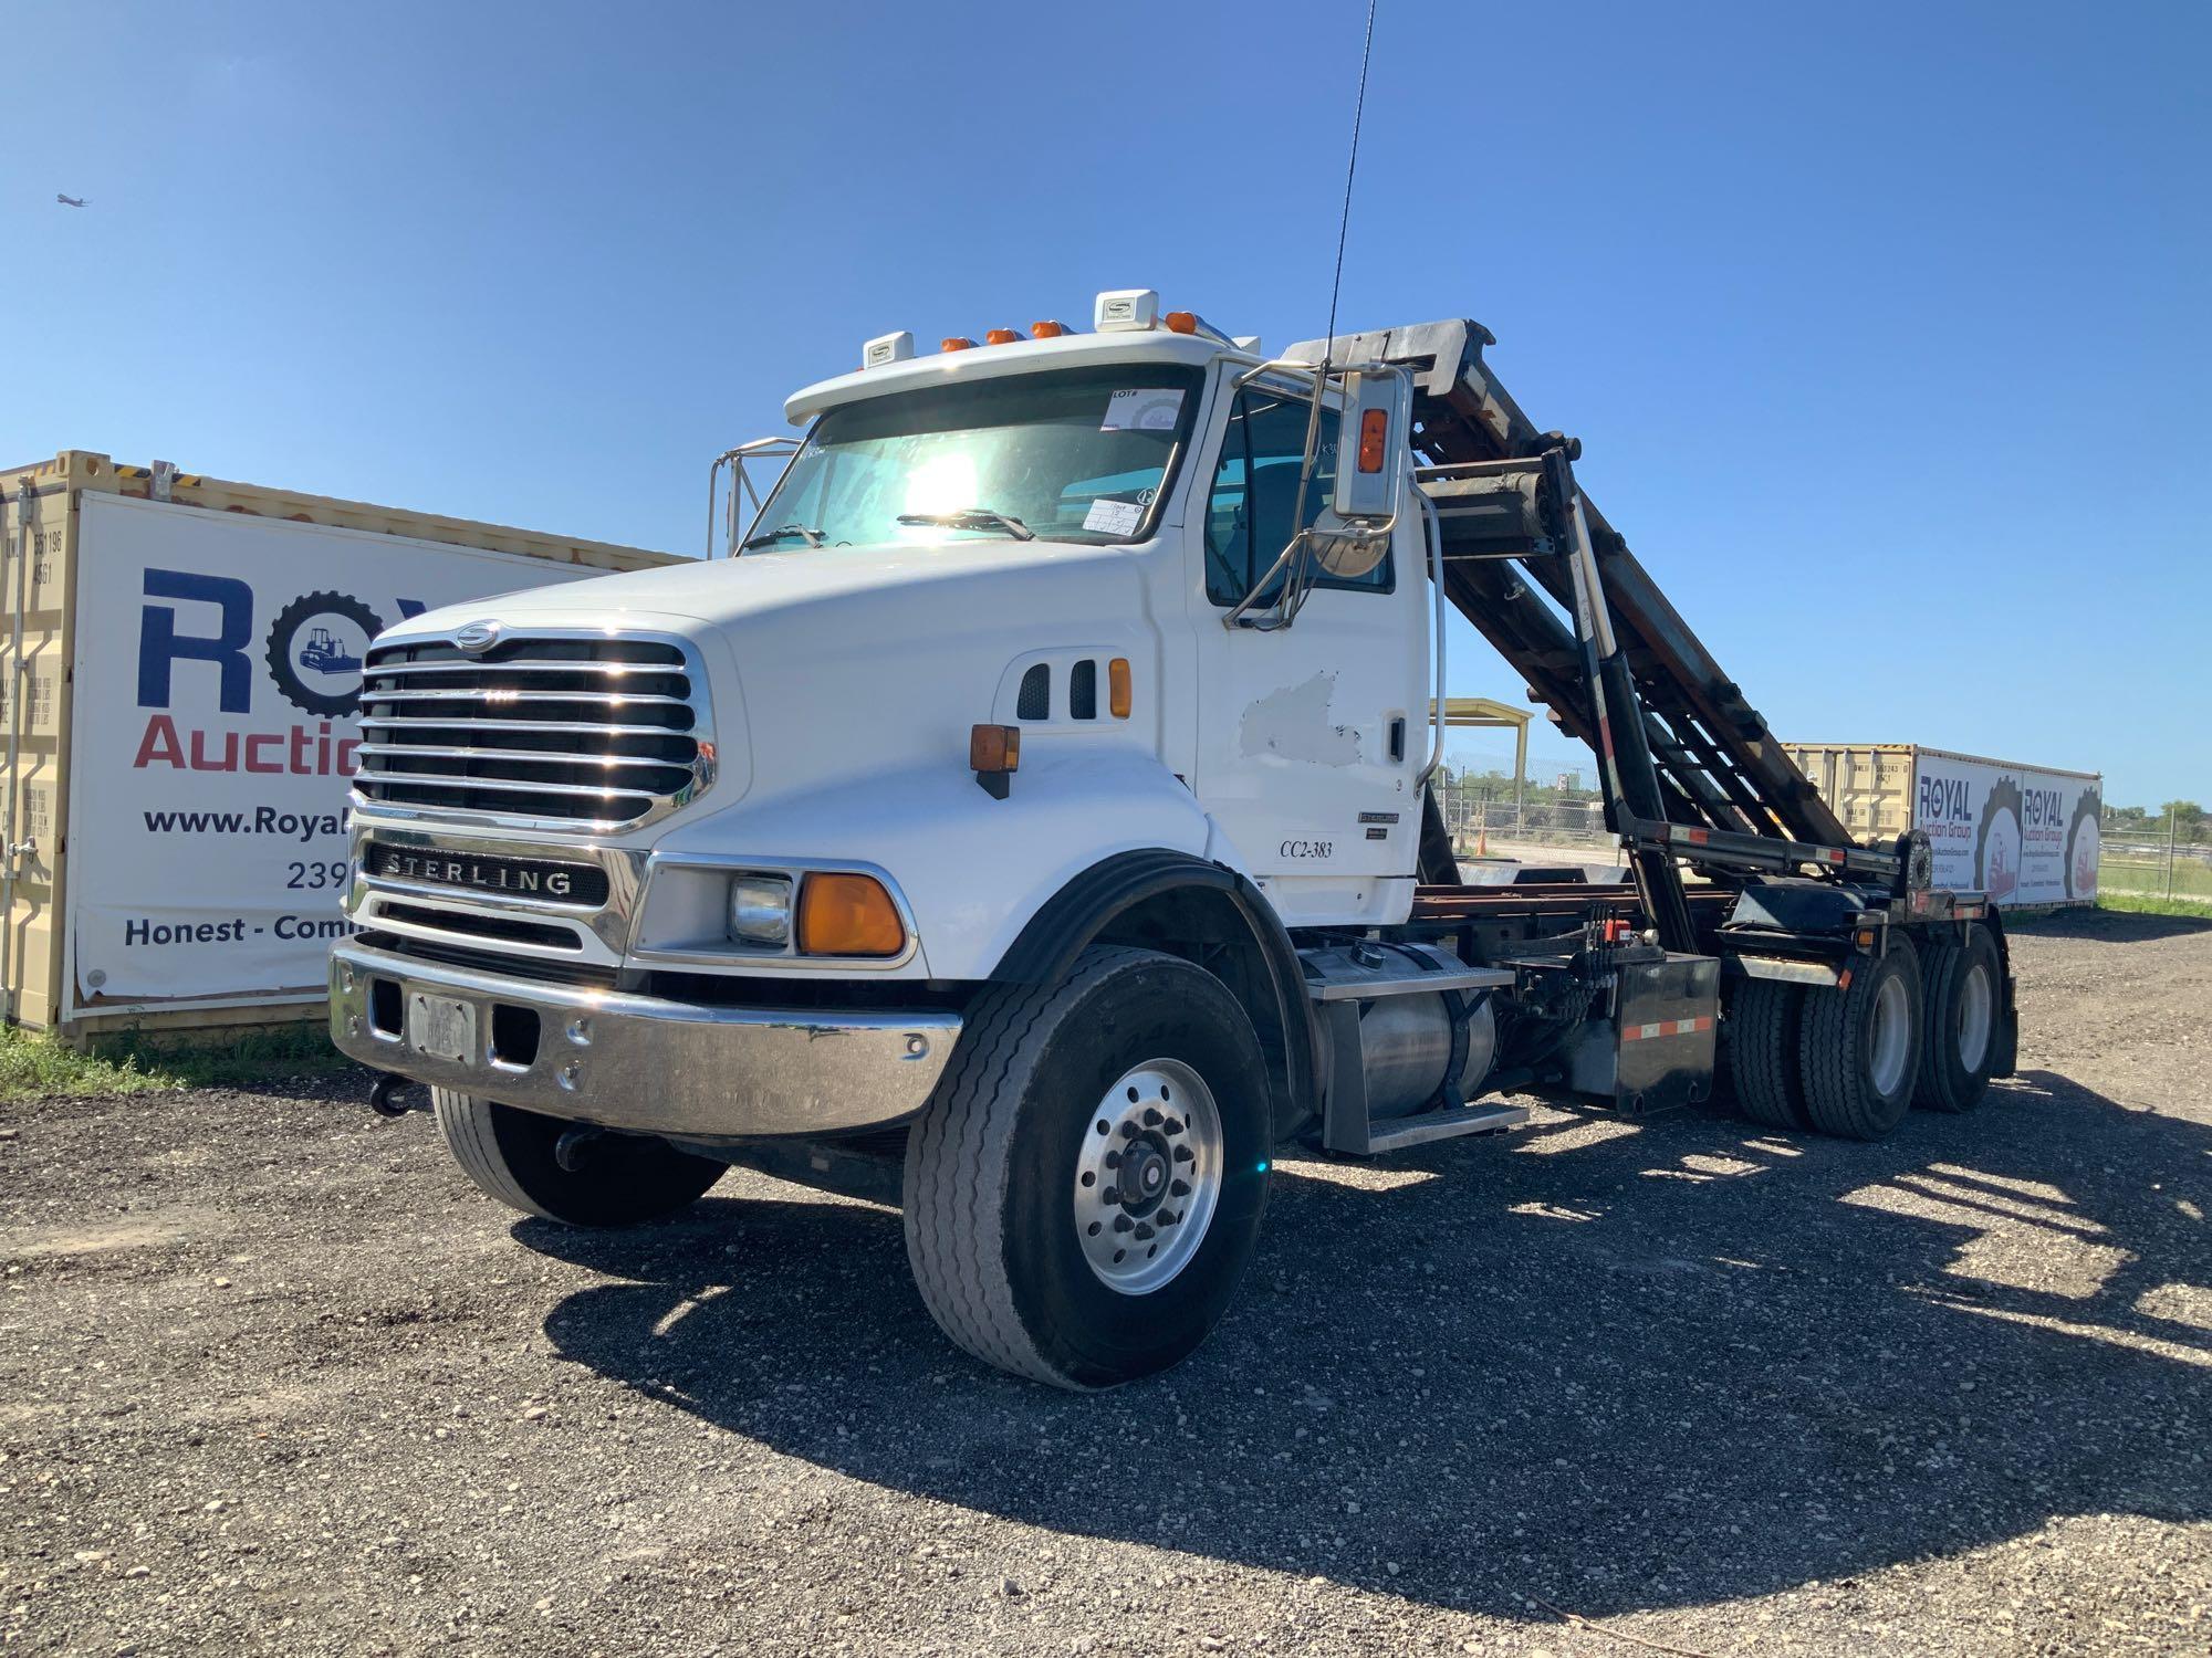
<svg viewBox="0 0 2212 1658">
<path fill-rule="evenodd" d="M 1148 290 L 889 334 L 723 458 L 734 557 L 380 634 L 330 964 L 372 1103 L 427 1083 L 568 1225 L 732 1163 L 889 1198 L 945 1333 L 1068 1388 L 1206 1337 L 1279 1147 L 1973 1108 L 2002 920 L 1851 840 L 1489 343 L 1265 358 Z M 1626 882 L 1460 882 L 1444 606 L 1597 754 Z"/>
</svg>

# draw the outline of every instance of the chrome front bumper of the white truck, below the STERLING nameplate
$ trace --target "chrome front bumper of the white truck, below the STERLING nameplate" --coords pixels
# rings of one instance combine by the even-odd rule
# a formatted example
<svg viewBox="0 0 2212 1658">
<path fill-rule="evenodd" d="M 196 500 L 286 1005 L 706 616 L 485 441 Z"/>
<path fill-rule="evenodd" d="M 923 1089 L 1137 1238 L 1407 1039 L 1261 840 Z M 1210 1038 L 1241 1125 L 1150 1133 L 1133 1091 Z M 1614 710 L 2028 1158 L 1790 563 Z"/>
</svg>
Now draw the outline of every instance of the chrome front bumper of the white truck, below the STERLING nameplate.
<svg viewBox="0 0 2212 1658">
<path fill-rule="evenodd" d="M 460 1024 L 469 1059 L 416 1043 L 416 997 L 473 1008 Z M 852 1134 L 914 1116 L 951 1059 L 960 1015 L 708 1008 L 347 942 L 330 953 L 330 1037 L 363 1066 L 546 1116 L 743 1138 Z"/>
</svg>

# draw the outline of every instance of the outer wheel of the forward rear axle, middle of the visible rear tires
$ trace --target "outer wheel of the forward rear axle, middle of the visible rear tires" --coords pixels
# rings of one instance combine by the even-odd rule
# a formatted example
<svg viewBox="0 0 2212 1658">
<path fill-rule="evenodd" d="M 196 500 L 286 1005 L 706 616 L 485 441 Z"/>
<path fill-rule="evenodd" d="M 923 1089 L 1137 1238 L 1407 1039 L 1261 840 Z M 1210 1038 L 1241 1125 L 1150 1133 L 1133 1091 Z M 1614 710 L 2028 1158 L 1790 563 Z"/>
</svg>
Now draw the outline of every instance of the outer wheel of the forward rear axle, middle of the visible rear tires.
<svg viewBox="0 0 2212 1658">
<path fill-rule="evenodd" d="M 1805 1110 L 1823 1134 L 1878 1141 L 1913 1103 L 1920 1070 L 1920 957 L 1891 937 L 1843 990 L 1807 990 L 1798 1032 Z"/>
</svg>

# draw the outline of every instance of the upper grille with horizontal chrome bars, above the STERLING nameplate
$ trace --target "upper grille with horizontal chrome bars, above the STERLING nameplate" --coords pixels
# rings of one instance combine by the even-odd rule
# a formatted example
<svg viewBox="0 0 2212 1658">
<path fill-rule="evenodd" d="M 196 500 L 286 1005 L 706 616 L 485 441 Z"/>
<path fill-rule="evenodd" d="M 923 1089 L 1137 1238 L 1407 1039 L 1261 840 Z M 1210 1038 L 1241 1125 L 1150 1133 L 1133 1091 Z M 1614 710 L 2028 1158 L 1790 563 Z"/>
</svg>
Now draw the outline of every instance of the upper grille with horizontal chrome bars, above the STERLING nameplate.
<svg viewBox="0 0 2212 1658">
<path fill-rule="evenodd" d="M 714 745 L 659 639 L 378 646 L 361 683 L 365 805 L 617 829 L 690 800 Z"/>
</svg>

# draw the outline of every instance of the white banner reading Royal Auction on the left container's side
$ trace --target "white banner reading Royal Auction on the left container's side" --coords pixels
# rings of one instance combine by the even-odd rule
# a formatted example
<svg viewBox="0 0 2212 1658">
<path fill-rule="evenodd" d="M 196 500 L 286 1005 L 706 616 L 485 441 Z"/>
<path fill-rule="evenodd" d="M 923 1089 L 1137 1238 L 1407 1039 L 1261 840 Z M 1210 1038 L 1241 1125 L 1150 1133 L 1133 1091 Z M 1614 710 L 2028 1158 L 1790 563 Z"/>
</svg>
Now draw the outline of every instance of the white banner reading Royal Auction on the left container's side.
<svg viewBox="0 0 2212 1658">
<path fill-rule="evenodd" d="M 119 495 L 80 511 L 73 1012 L 319 993 L 347 931 L 369 639 L 599 570 Z"/>
</svg>

